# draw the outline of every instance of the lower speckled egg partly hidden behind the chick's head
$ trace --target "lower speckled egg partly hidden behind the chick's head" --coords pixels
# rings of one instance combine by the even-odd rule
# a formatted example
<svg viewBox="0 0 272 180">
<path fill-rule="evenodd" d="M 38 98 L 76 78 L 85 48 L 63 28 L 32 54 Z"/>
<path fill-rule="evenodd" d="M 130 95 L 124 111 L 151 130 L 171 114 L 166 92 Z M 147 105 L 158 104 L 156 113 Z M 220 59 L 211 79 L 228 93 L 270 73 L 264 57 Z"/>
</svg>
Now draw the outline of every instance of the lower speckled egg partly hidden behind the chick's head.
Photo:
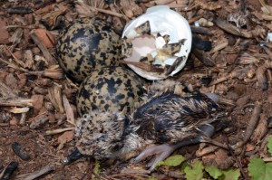
<svg viewBox="0 0 272 180">
<path fill-rule="evenodd" d="M 80 116 L 93 110 L 130 112 L 143 93 L 141 79 L 123 67 L 105 67 L 92 71 L 81 84 L 77 96 Z"/>
</svg>

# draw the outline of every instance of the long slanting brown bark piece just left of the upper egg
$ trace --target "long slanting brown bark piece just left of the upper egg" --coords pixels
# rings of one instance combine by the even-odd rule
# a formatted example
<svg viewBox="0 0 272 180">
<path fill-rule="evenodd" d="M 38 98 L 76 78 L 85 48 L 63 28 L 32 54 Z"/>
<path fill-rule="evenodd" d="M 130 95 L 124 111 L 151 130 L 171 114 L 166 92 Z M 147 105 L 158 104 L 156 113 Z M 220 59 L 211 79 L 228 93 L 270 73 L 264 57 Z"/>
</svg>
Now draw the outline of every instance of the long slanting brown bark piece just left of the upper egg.
<svg viewBox="0 0 272 180">
<path fill-rule="evenodd" d="M 32 31 L 30 33 L 31 38 L 33 39 L 34 43 L 37 44 L 37 46 L 40 48 L 40 50 L 43 52 L 45 59 L 47 60 L 47 62 L 49 63 L 49 65 L 53 65 L 56 64 L 57 62 L 55 62 L 53 60 L 53 56 L 51 55 L 51 53 L 47 50 L 47 48 L 45 47 L 44 43 L 42 43 L 42 41 L 39 39 L 39 37 L 36 35 L 36 33 L 34 31 Z"/>
</svg>

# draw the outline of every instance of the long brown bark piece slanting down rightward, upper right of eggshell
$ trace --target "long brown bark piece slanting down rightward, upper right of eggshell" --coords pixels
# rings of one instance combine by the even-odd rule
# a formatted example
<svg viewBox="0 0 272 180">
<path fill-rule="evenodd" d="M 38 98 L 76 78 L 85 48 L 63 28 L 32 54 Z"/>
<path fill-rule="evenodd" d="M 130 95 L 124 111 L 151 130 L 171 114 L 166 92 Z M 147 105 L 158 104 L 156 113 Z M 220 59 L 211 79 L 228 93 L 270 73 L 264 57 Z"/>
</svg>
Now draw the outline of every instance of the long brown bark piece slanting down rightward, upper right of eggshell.
<svg viewBox="0 0 272 180">
<path fill-rule="evenodd" d="M 228 21 L 220 19 L 220 18 L 215 20 L 215 24 L 218 25 L 219 28 L 221 28 L 225 32 L 231 33 L 233 35 L 238 35 L 240 37 L 245 37 L 245 38 L 252 38 L 253 36 L 252 33 L 246 30 L 239 29 L 235 25 L 229 24 Z"/>
</svg>

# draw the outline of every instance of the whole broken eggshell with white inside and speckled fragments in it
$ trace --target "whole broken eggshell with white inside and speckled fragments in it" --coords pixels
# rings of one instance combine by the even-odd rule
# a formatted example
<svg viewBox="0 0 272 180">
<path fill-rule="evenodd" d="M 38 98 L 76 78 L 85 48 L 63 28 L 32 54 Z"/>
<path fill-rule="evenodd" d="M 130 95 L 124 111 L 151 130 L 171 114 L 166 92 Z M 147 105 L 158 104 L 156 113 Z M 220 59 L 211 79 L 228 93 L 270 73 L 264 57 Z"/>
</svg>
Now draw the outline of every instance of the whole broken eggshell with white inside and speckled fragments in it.
<svg viewBox="0 0 272 180">
<path fill-rule="evenodd" d="M 166 5 L 147 10 L 122 33 L 122 63 L 148 80 L 179 72 L 187 61 L 192 35 L 187 20 Z"/>
</svg>

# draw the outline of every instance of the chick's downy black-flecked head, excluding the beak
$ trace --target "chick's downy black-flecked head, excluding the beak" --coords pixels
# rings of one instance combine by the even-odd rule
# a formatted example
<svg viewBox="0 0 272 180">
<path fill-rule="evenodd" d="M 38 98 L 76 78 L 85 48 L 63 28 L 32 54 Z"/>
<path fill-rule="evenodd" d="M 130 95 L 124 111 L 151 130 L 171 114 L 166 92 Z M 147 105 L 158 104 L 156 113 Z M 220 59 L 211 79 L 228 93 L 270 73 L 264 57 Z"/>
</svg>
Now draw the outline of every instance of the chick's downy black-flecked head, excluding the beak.
<svg viewBox="0 0 272 180">
<path fill-rule="evenodd" d="M 96 159 L 111 158 L 121 147 L 121 136 L 126 118 L 118 113 L 94 111 L 84 115 L 75 128 L 76 147 L 87 156 Z"/>
</svg>

